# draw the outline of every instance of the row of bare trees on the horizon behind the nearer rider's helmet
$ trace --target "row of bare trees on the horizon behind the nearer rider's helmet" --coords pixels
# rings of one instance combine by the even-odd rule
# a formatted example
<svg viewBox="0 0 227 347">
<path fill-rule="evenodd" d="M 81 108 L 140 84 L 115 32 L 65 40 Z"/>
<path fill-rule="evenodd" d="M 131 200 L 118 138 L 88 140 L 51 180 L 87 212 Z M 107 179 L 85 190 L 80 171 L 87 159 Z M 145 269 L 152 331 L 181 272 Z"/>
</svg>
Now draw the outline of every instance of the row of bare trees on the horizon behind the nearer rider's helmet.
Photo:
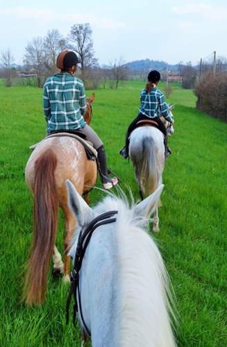
<svg viewBox="0 0 227 347">
<path fill-rule="evenodd" d="M 128 79 L 128 68 L 123 58 L 116 58 L 106 68 L 99 67 L 94 56 L 92 28 L 90 24 L 74 24 L 67 37 L 63 37 L 57 29 L 47 32 L 45 37 L 34 37 L 25 47 L 24 65 L 17 67 L 12 51 L 7 49 L 0 53 L 0 77 L 6 86 L 12 85 L 12 78 L 19 76 L 26 84 L 42 87 L 48 76 L 58 71 L 56 60 L 60 51 L 72 49 L 79 60 L 78 75 L 85 82 L 85 87 L 95 88 L 98 85 L 117 88 L 121 81 Z"/>
</svg>

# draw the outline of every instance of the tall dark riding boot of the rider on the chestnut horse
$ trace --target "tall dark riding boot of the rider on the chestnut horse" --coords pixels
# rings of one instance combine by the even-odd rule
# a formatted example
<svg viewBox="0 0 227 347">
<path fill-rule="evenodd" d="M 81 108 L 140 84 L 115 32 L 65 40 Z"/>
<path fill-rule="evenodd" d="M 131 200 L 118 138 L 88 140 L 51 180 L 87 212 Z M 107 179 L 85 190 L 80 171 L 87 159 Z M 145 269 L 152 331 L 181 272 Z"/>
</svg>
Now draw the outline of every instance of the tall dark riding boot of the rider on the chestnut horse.
<svg viewBox="0 0 227 347">
<path fill-rule="evenodd" d="M 104 146 L 100 146 L 98 149 L 96 149 L 96 151 L 99 160 L 99 174 L 101 183 L 103 183 L 103 187 L 105 189 L 110 189 L 113 185 L 117 185 L 118 180 L 116 177 L 110 178 L 108 176 L 108 167 L 106 163 L 106 152 Z"/>
</svg>

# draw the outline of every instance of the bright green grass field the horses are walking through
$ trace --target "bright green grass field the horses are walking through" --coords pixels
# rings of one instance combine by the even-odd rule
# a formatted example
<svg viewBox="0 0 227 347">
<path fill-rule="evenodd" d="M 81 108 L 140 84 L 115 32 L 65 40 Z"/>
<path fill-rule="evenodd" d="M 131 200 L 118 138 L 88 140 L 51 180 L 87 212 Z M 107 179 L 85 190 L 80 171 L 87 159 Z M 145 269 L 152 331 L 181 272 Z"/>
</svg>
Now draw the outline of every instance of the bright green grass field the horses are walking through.
<svg viewBox="0 0 227 347">
<path fill-rule="evenodd" d="M 109 166 L 139 198 L 131 164 L 118 151 L 137 115 L 143 83 L 95 90 L 92 127 L 103 139 Z M 163 87 L 163 85 L 161 85 Z M 87 92 L 89 96 L 90 91 Z M 174 85 L 169 99 L 175 133 L 164 174 L 160 233 L 154 235 L 177 298 L 178 346 L 227 346 L 227 124 L 195 109 L 191 90 Z M 81 346 L 79 329 L 65 324 L 68 287 L 49 274 L 42 307 L 21 301 L 31 244 L 33 200 L 24 182 L 30 144 L 45 134 L 42 90 L 0 85 L 0 346 Z M 99 185 L 99 184 L 98 184 Z M 94 189 L 92 204 L 103 196 Z M 62 249 L 60 217 L 58 247 Z M 138 346 L 139 347 L 139 346 Z"/>
</svg>

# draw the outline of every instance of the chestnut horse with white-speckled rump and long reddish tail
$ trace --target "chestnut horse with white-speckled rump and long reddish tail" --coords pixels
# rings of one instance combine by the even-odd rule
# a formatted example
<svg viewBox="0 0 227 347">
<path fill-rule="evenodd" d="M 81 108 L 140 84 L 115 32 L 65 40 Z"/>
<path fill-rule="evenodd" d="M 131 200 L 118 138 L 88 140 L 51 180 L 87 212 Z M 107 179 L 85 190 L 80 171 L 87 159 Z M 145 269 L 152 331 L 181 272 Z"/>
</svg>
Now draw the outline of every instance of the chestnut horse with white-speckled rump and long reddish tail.
<svg viewBox="0 0 227 347">
<path fill-rule="evenodd" d="M 87 99 L 90 119 L 94 94 Z M 87 118 L 86 118 L 87 117 Z M 69 278 L 69 244 L 76 226 L 74 214 L 67 205 L 65 181 L 71 180 L 79 194 L 86 194 L 96 183 L 96 162 L 87 160 L 81 142 L 72 137 L 51 137 L 37 144 L 25 169 L 26 183 L 33 193 L 33 244 L 28 260 L 24 296 L 28 305 L 42 303 L 47 287 L 47 272 L 53 254 L 53 271 Z M 88 194 L 88 193 L 87 193 Z M 86 196 L 88 201 L 88 195 Z M 65 214 L 65 266 L 55 246 L 58 207 Z"/>
</svg>

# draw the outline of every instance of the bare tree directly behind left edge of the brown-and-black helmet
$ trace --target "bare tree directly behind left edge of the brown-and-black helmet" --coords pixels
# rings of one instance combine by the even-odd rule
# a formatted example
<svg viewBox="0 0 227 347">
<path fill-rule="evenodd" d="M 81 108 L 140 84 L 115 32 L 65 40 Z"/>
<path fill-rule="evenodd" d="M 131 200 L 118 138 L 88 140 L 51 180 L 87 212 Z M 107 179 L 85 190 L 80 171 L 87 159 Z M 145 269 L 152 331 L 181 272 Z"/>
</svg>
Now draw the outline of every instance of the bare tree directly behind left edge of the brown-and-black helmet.
<svg viewBox="0 0 227 347">
<path fill-rule="evenodd" d="M 57 29 L 47 32 L 47 36 L 44 37 L 45 66 L 52 73 L 57 70 L 56 60 L 58 54 L 66 48 L 66 40 Z"/>
</svg>

